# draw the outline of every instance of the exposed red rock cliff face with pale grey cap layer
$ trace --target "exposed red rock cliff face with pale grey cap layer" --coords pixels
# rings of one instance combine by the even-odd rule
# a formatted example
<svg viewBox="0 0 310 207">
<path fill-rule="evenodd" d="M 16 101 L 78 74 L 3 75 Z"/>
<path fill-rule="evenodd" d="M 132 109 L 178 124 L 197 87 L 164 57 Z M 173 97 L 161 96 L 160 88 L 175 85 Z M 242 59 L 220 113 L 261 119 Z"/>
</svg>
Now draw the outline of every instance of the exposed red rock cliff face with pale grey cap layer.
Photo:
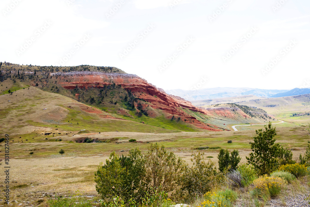
<svg viewBox="0 0 310 207">
<path fill-rule="evenodd" d="M 51 76 L 58 76 L 58 83 L 66 89 L 79 88 L 103 88 L 113 83 L 131 91 L 135 97 L 147 101 L 153 109 L 162 110 L 167 118 L 173 115 L 184 122 L 195 125 L 198 128 L 210 131 L 222 131 L 223 129 L 205 124 L 197 120 L 186 110 L 200 112 L 204 115 L 211 115 L 207 110 L 199 109 L 189 101 L 181 97 L 168 95 L 161 88 L 148 83 L 145 79 L 134 74 L 102 73 L 102 72 L 68 72 L 52 73 Z M 76 94 L 78 98 L 78 94 Z"/>
</svg>

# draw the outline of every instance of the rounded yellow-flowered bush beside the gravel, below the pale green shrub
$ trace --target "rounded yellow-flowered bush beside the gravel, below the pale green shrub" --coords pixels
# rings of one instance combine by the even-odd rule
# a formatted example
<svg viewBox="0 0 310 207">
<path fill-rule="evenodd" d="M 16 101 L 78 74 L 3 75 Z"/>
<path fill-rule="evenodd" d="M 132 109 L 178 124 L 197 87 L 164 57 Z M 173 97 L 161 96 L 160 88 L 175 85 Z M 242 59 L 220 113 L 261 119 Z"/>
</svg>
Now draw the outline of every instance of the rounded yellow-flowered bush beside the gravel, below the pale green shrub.
<svg viewBox="0 0 310 207">
<path fill-rule="evenodd" d="M 278 177 L 259 176 L 253 181 L 254 188 L 261 193 L 267 193 L 270 197 L 277 196 L 287 186 L 287 181 Z"/>
</svg>

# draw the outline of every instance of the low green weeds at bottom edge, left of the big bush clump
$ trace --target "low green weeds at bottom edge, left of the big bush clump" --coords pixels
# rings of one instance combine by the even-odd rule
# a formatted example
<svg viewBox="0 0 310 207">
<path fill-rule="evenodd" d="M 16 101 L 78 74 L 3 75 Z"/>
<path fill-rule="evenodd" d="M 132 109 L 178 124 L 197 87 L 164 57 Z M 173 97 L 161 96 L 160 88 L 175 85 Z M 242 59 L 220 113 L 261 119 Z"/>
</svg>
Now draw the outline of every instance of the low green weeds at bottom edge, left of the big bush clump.
<svg viewBox="0 0 310 207">
<path fill-rule="evenodd" d="M 82 194 L 76 193 L 72 198 L 60 198 L 56 197 L 56 199 L 48 200 L 47 203 L 50 207 L 91 207 L 92 204 L 84 197 Z"/>
</svg>

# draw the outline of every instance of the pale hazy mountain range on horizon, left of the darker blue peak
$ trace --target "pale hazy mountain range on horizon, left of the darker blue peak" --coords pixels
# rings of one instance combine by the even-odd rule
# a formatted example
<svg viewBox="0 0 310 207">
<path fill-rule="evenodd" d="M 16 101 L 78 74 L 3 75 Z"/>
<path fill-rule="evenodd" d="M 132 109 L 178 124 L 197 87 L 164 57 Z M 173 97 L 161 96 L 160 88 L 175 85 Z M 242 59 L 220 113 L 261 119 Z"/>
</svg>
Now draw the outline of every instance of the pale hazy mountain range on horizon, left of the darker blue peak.
<svg viewBox="0 0 310 207">
<path fill-rule="evenodd" d="M 188 91 L 188 90 L 182 90 L 182 89 L 165 90 L 165 91 L 168 94 L 173 94 L 175 96 L 182 97 L 188 101 L 246 96 L 246 95 L 254 95 L 257 97 L 274 97 L 275 95 L 280 94 L 280 93 L 290 92 L 289 90 L 267 90 L 267 89 L 258 89 L 258 88 L 229 88 L 229 87 L 204 88 L 204 89 L 195 90 L 195 91 Z M 296 95 L 296 94 L 292 94 L 292 95 Z M 292 96 L 292 95 L 289 95 L 289 96 Z"/>
</svg>

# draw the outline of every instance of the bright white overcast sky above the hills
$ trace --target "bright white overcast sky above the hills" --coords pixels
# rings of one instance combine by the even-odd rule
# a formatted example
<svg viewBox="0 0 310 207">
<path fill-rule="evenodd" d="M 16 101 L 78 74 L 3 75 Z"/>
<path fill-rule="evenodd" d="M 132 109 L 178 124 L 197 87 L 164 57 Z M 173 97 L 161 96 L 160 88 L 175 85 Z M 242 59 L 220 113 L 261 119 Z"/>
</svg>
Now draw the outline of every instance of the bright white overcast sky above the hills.
<svg viewBox="0 0 310 207">
<path fill-rule="evenodd" d="M 1 0 L 0 61 L 114 66 L 163 89 L 310 88 L 309 0 Z"/>
</svg>

